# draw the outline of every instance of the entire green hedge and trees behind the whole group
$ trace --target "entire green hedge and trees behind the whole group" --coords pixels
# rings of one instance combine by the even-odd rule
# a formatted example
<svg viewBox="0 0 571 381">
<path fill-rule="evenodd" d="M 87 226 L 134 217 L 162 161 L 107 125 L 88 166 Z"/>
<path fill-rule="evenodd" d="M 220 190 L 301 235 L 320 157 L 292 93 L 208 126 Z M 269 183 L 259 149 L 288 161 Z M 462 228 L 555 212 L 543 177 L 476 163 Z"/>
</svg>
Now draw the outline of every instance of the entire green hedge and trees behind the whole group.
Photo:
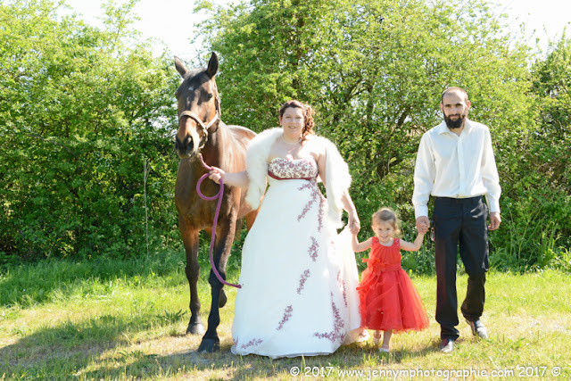
<svg viewBox="0 0 571 381">
<path fill-rule="evenodd" d="M 62 5 L 48 0 L 0 3 L 0 265 L 145 253 L 145 194 L 151 250 L 180 250 L 169 131 L 179 77 L 170 57 L 138 40 L 135 3 L 103 4 L 103 29 L 57 16 Z M 219 54 L 224 120 L 261 131 L 286 99 L 312 104 L 318 133 L 350 163 L 361 240 L 383 205 L 414 239 L 418 140 L 442 118 L 443 88 L 460 86 L 470 117 L 492 130 L 500 172 L 492 266 L 571 267 L 565 35 L 533 57 L 485 0 L 202 1 L 199 11 L 211 17 L 198 26 L 193 63 Z M 431 272 L 432 253 L 426 238 L 403 266 Z M 239 255 L 228 266 L 239 268 Z"/>
</svg>

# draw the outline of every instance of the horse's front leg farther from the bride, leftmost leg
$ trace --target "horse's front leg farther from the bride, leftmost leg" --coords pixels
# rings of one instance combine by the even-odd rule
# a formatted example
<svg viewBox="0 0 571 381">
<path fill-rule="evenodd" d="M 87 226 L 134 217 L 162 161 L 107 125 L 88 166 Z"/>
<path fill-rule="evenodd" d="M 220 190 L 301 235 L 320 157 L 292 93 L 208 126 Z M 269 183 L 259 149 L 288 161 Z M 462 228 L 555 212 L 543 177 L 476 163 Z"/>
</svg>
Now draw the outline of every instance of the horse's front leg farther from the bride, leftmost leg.
<svg viewBox="0 0 571 381">
<path fill-rule="evenodd" d="M 200 275 L 200 265 L 198 264 L 198 233 L 199 231 L 192 228 L 184 218 L 178 219 L 178 229 L 182 236 L 183 244 L 186 252 L 186 279 L 190 288 L 190 320 L 186 327 L 186 334 L 203 335 L 204 326 L 200 319 L 200 299 L 198 298 L 198 277 Z"/>
</svg>

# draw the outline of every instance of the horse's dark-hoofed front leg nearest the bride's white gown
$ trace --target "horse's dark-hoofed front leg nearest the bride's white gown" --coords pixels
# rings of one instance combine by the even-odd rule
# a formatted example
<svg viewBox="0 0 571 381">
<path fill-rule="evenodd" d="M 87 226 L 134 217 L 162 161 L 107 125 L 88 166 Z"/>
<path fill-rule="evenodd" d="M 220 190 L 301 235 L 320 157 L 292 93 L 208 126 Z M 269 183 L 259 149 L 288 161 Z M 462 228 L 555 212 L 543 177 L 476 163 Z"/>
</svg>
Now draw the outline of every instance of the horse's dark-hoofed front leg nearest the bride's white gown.
<svg viewBox="0 0 571 381">
<path fill-rule="evenodd" d="M 220 277 L 226 280 L 226 264 L 232 250 L 232 243 L 236 232 L 236 213 L 231 213 L 233 217 L 227 221 L 219 221 L 222 226 L 217 229 L 216 241 L 214 244 L 213 260 L 214 266 L 218 269 Z M 226 303 L 224 286 L 211 270 L 208 283 L 211 284 L 211 312 L 208 316 L 208 329 L 203 336 L 203 341 L 198 347 L 198 352 L 216 352 L 219 350 L 220 340 L 217 328 L 220 324 L 219 308 Z"/>
</svg>

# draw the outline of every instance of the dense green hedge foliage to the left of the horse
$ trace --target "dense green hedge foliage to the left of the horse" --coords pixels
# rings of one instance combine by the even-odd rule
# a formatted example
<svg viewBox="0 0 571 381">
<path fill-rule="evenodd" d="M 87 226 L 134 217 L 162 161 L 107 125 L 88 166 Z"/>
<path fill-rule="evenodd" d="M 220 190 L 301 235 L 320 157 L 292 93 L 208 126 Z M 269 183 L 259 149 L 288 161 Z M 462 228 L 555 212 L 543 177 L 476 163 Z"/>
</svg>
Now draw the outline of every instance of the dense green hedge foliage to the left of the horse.
<svg viewBox="0 0 571 381">
<path fill-rule="evenodd" d="M 106 29 L 58 18 L 49 1 L 0 4 L 4 253 L 144 253 L 145 160 L 151 244 L 175 241 L 177 160 L 165 127 L 178 79 L 128 30 L 133 4 L 106 4 Z"/>
</svg>

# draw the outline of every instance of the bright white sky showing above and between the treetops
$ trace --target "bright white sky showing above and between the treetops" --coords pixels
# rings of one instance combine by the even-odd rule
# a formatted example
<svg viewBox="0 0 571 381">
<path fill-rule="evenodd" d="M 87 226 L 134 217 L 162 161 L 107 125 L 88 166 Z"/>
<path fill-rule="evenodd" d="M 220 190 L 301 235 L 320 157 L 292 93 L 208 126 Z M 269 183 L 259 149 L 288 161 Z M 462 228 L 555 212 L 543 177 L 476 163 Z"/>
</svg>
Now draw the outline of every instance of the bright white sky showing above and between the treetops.
<svg viewBox="0 0 571 381">
<path fill-rule="evenodd" d="M 235 0 L 216 0 L 215 3 L 228 4 L 232 1 Z M 66 3 L 84 20 L 97 25 L 96 18 L 102 14 L 100 1 L 66 0 Z M 539 37 L 543 50 L 547 48 L 548 40 L 559 40 L 564 27 L 571 21 L 570 0 L 492 0 L 492 3 L 498 4 L 498 12 L 509 14 L 509 26 L 514 33 L 518 33 L 518 26 L 524 23 L 528 43 L 534 45 L 535 37 Z M 135 7 L 141 18 L 136 28 L 143 37 L 163 41 L 173 55 L 190 60 L 196 54 L 189 42 L 194 33 L 193 23 L 204 17 L 193 14 L 193 8 L 193 0 L 140 0 Z M 571 37 L 571 28 L 567 29 L 567 36 Z M 533 30 L 535 37 L 529 38 Z"/>
</svg>

